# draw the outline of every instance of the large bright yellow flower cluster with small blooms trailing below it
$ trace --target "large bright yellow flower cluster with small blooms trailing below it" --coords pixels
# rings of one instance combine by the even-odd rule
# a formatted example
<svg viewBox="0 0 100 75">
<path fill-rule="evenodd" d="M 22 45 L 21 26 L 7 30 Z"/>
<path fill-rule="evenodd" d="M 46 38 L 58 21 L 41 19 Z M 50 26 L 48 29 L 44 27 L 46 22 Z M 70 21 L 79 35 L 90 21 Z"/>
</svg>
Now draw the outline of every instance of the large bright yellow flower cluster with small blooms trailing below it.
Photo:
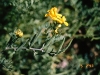
<svg viewBox="0 0 100 75">
<path fill-rule="evenodd" d="M 48 13 L 45 15 L 45 17 L 50 17 L 52 20 L 59 23 L 58 27 L 55 30 L 55 33 L 58 33 L 57 30 L 61 27 L 61 24 L 65 24 L 66 26 L 68 26 L 68 23 L 66 22 L 65 16 L 62 16 L 62 14 L 59 14 L 57 12 L 56 7 L 51 8 L 47 12 Z"/>
</svg>

